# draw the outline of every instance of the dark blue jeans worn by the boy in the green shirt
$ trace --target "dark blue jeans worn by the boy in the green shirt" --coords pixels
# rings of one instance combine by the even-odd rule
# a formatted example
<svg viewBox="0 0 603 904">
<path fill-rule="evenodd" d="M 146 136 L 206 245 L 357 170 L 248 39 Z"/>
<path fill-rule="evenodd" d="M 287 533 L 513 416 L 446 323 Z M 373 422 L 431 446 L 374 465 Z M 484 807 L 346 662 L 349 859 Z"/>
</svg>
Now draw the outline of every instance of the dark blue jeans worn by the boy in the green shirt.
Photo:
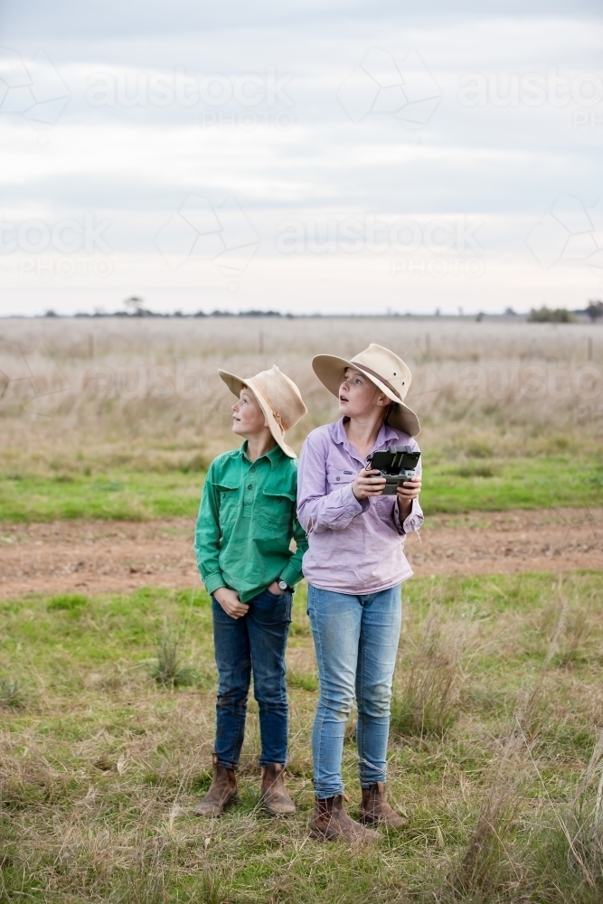
<svg viewBox="0 0 603 904">
<path fill-rule="evenodd" d="M 285 648 L 291 602 L 288 591 L 277 596 L 264 590 L 250 601 L 246 616 L 231 618 L 212 597 L 213 643 L 219 675 L 214 751 L 218 762 L 228 769 L 239 763 L 251 672 L 253 695 L 259 706 L 259 763 L 285 766 L 287 762 Z"/>
</svg>

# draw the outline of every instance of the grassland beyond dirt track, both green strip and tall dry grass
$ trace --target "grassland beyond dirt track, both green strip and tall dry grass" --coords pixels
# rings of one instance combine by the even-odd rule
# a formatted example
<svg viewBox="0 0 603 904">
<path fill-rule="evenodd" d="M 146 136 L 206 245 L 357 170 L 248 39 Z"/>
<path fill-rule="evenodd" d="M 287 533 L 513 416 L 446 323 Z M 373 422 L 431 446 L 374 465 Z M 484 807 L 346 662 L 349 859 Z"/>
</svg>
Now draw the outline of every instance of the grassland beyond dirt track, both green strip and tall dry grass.
<svg viewBox="0 0 603 904">
<path fill-rule="evenodd" d="M 391 346 L 412 368 L 430 511 L 591 504 L 600 494 L 598 327 L 44 318 L 0 322 L 0 466 L 14 478 L 0 498 L 5 520 L 188 515 L 199 490 L 194 474 L 232 446 L 219 367 L 246 376 L 276 362 L 297 381 L 309 409 L 292 431 L 298 448 L 336 414 L 312 356 L 351 356 L 369 342 Z"/>
</svg>

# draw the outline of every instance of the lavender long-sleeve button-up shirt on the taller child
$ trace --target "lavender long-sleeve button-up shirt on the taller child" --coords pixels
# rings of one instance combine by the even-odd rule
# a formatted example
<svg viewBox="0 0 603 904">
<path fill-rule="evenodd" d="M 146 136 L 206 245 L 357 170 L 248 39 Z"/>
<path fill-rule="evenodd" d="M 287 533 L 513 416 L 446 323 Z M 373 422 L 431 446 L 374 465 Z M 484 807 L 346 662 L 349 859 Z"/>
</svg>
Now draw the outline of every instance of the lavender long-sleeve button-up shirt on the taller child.
<svg viewBox="0 0 603 904">
<path fill-rule="evenodd" d="M 419 448 L 414 439 L 384 424 L 371 453 L 391 443 Z M 413 499 L 403 524 L 395 496 L 359 501 L 351 484 L 365 465 L 347 438 L 343 418 L 313 430 L 301 450 L 297 517 L 309 543 L 302 569 L 315 587 L 362 595 L 394 587 L 412 575 L 404 537 L 423 523 L 419 500 Z"/>
</svg>

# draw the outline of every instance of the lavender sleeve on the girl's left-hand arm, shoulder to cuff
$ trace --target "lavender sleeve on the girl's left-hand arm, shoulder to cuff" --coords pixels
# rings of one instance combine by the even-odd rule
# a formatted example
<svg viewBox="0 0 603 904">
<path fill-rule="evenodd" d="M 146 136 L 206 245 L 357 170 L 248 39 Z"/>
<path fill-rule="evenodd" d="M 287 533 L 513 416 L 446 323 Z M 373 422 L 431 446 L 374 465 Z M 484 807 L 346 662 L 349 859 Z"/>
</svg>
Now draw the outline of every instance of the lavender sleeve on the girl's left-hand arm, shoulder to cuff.
<svg viewBox="0 0 603 904">
<path fill-rule="evenodd" d="M 368 507 L 368 499 L 356 499 L 351 484 L 327 492 L 325 448 L 307 438 L 297 468 L 297 517 L 304 530 L 343 531 Z"/>
</svg>

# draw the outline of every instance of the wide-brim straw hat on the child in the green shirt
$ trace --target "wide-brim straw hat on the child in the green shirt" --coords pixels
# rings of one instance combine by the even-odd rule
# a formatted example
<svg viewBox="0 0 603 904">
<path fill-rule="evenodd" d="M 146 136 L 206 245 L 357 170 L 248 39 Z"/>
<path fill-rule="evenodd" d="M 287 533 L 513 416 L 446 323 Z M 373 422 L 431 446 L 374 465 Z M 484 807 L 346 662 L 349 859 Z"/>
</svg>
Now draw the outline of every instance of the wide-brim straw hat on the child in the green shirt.
<svg viewBox="0 0 603 904">
<path fill-rule="evenodd" d="M 244 386 L 253 392 L 268 423 L 270 433 L 277 440 L 283 452 L 297 458 L 292 448 L 285 442 L 287 430 L 295 427 L 298 420 L 307 414 L 306 405 L 296 384 L 287 374 L 273 364 L 269 371 L 256 373 L 255 377 L 238 377 L 228 371 L 218 371 L 233 395 L 239 398 Z"/>
</svg>

